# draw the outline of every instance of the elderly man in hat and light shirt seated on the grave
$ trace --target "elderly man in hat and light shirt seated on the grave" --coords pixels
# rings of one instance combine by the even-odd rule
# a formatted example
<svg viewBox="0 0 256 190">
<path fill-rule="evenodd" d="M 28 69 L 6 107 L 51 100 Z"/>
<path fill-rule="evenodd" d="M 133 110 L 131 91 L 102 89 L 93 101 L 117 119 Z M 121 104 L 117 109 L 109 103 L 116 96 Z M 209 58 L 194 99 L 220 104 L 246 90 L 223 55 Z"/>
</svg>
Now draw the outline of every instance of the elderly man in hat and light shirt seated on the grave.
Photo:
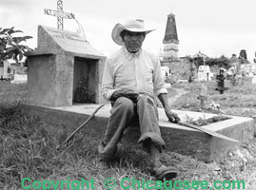
<svg viewBox="0 0 256 190">
<path fill-rule="evenodd" d="M 99 145 L 100 165 L 108 168 L 124 130 L 135 118 L 141 132 L 138 142 L 150 154 L 151 173 L 157 180 L 169 180 L 177 176 L 177 171 L 160 161 L 166 144 L 161 137 L 153 95 L 165 107 L 170 122 L 180 119 L 167 102 L 158 58 L 142 49 L 146 35 L 152 30 L 145 28 L 144 21 L 139 19 L 117 24 L 112 30 L 113 41 L 122 48 L 107 59 L 103 73 L 103 96 L 111 101 L 112 108 L 104 140 Z"/>
</svg>

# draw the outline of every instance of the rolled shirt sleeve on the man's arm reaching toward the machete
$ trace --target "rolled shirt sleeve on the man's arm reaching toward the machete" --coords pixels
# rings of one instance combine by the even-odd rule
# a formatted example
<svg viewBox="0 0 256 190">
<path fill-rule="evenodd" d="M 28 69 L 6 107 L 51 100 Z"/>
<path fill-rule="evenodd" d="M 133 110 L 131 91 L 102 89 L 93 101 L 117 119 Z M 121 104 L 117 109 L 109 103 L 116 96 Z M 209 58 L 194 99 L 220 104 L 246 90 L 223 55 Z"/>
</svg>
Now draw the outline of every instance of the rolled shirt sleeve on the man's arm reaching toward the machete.
<svg viewBox="0 0 256 190">
<path fill-rule="evenodd" d="M 153 84 L 154 92 L 158 96 L 159 94 L 167 94 L 167 88 L 165 87 L 165 82 L 161 73 L 161 66 L 158 58 L 154 58 L 154 75 L 153 75 Z"/>
</svg>

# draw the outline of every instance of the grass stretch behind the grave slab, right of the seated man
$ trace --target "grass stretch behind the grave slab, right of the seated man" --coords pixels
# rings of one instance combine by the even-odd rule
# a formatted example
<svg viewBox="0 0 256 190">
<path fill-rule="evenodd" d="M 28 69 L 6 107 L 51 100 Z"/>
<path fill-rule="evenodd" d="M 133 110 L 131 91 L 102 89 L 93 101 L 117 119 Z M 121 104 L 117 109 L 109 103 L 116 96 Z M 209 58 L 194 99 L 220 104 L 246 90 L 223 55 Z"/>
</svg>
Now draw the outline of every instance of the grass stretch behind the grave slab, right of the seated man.
<svg viewBox="0 0 256 190">
<path fill-rule="evenodd" d="M 228 83 L 226 85 L 229 87 L 224 94 L 220 94 L 219 91 L 215 90 L 216 83 L 207 82 L 203 83 L 207 85 L 208 89 L 208 99 L 206 104 L 209 105 L 212 101 L 216 104 L 221 105 L 221 109 L 225 114 L 235 115 L 235 116 L 245 116 L 253 117 L 256 115 L 256 86 L 248 83 L 244 79 L 242 85 L 231 86 Z M 201 111 L 200 101 L 198 100 L 199 85 L 194 84 L 183 84 L 183 87 L 187 89 L 187 94 L 182 95 L 172 107 L 175 109 L 184 109 L 191 111 Z M 174 86 L 176 87 L 176 86 Z M 208 107 L 207 107 L 208 108 Z M 214 112 L 214 110 L 204 110 L 206 112 Z"/>
</svg>

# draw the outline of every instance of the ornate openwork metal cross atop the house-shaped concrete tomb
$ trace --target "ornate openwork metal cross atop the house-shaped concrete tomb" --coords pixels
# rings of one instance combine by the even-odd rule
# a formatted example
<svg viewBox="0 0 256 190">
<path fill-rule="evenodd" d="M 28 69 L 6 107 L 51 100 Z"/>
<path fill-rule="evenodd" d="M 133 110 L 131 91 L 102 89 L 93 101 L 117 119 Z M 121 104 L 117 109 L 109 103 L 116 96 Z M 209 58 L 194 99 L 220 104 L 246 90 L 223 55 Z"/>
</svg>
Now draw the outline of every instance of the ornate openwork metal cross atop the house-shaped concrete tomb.
<svg viewBox="0 0 256 190">
<path fill-rule="evenodd" d="M 63 11 L 62 0 L 57 1 L 57 10 L 47 10 L 45 9 L 45 14 L 57 17 L 57 28 L 63 30 L 63 19 L 74 19 L 73 13 L 67 13 Z"/>
</svg>

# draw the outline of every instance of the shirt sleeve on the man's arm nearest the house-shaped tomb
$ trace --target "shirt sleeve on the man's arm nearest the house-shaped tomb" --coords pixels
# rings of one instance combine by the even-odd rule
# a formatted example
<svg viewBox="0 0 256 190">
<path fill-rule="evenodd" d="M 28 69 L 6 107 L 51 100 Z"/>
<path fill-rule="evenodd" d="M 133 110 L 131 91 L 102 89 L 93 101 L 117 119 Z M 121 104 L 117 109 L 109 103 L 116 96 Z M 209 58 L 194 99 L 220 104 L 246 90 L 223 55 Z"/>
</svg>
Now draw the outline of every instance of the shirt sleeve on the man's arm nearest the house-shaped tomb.
<svg viewBox="0 0 256 190">
<path fill-rule="evenodd" d="M 109 101 L 111 95 L 115 91 L 114 89 L 114 74 L 110 66 L 110 60 L 107 59 L 105 66 L 104 66 L 104 71 L 103 71 L 103 76 L 102 76 L 102 87 L 101 87 L 101 92 L 103 97 Z"/>
</svg>

